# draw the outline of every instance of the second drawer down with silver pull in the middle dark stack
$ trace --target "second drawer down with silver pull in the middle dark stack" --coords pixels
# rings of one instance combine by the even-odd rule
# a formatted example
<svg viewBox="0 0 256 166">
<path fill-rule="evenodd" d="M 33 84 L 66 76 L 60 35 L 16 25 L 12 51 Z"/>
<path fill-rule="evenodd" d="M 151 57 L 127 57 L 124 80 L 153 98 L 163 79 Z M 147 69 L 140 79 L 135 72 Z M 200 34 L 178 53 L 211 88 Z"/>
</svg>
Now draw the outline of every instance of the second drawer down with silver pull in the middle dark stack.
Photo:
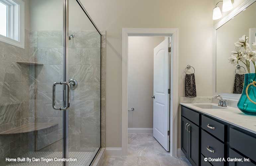
<svg viewBox="0 0 256 166">
<path fill-rule="evenodd" d="M 209 147 L 208 147 L 209 146 Z M 208 147 L 208 149 L 207 149 Z M 210 152 L 214 150 L 214 152 Z M 224 157 L 224 144 L 208 134 L 206 131 L 202 130 L 202 141 L 201 141 L 201 152 L 202 154 L 209 158 L 223 158 Z M 224 166 L 224 162 L 211 162 L 214 166 Z"/>
</svg>

